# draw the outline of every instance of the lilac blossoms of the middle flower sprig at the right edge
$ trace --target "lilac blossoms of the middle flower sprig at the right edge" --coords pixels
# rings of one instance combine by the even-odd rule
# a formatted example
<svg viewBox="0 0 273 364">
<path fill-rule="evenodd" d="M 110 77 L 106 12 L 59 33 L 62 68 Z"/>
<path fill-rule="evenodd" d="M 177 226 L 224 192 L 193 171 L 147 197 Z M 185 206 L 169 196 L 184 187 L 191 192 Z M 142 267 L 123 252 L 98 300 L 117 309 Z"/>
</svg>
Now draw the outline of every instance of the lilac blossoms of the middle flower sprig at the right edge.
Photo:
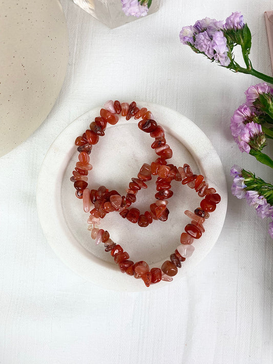
<svg viewBox="0 0 273 364">
<path fill-rule="evenodd" d="M 241 152 L 249 153 L 250 148 L 261 150 L 265 145 L 262 126 L 255 122 L 260 112 L 253 105 L 263 93 L 273 93 L 273 89 L 266 83 L 250 86 L 245 92 L 246 102 L 239 106 L 230 120 L 230 130 Z"/>
</svg>

